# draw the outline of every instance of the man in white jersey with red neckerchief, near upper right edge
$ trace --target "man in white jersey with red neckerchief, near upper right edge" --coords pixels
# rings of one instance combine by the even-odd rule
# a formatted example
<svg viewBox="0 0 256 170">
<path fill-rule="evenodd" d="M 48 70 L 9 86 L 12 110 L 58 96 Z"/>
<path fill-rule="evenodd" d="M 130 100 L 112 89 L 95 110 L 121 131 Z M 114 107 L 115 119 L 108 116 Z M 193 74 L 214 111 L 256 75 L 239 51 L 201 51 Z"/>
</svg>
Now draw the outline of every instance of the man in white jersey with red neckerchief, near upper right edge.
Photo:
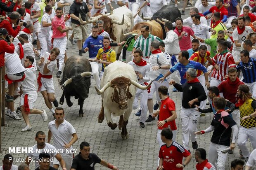
<svg viewBox="0 0 256 170">
<path fill-rule="evenodd" d="M 246 39 L 246 37 L 249 33 L 253 32 L 251 27 L 244 25 L 244 21 L 245 21 L 245 18 L 243 16 L 239 17 L 237 19 L 238 26 L 232 33 L 232 37 L 234 40 L 232 55 L 236 62 L 239 61 L 239 59 L 240 59 L 241 43 Z"/>
</svg>

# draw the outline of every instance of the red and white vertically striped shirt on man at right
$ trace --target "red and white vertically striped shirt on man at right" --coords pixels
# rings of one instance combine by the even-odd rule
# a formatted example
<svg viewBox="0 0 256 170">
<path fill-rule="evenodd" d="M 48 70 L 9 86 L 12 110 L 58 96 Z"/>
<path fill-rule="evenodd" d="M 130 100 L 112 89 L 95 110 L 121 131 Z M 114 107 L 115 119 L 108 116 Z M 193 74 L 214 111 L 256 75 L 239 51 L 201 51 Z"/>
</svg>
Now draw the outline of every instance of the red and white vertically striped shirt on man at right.
<svg viewBox="0 0 256 170">
<path fill-rule="evenodd" d="M 228 69 L 231 67 L 236 68 L 234 58 L 230 52 L 223 54 L 217 53 L 212 59 L 213 65 L 217 64 L 219 70 L 214 69 L 211 77 L 223 81 L 224 76 L 228 75 Z"/>
</svg>

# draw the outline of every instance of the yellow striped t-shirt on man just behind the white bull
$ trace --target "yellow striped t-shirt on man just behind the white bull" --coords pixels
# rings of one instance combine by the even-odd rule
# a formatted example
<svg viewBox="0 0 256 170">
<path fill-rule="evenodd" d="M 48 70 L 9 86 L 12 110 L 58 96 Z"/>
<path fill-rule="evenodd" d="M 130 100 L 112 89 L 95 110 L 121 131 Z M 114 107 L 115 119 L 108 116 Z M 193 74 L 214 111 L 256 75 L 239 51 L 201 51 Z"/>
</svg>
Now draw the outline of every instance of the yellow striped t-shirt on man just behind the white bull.
<svg viewBox="0 0 256 170">
<path fill-rule="evenodd" d="M 104 51 L 104 47 L 100 48 L 98 54 L 96 56 L 97 59 L 102 61 L 111 61 L 112 63 L 116 61 L 116 52 L 114 49 L 110 48 Z M 107 66 L 106 64 L 102 64 L 102 71 Z"/>
</svg>

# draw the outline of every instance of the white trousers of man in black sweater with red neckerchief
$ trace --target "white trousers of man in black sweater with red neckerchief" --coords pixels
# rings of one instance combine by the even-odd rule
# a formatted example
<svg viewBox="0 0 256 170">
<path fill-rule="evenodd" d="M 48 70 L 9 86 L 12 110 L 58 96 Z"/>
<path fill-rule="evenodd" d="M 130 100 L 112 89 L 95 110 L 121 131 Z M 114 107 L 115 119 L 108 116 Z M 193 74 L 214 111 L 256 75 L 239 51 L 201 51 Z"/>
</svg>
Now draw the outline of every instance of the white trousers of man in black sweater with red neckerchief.
<svg viewBox="0 0 256 170">
<path fill-rule="evenodd" d="M 199 123 L 200 112 L 197 108 L 185 109 L 181 107 L 180 119 L 182 124 L 182 142 L 185 149 L 189 150 L 189 140 L 195 142 L 197 136 L 194 133 L 197 131 L 197 123 Z"/>
</svg>

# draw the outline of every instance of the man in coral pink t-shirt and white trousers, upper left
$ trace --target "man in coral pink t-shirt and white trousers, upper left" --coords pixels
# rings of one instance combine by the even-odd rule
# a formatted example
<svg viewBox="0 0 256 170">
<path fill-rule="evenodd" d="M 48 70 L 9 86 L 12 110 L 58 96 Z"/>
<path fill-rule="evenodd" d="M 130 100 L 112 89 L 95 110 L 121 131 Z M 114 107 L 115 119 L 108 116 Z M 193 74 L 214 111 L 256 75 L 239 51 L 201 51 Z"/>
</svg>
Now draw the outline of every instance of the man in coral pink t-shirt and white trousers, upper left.
<svg viewBox="0 0 256 170">
<path fill-rule="evenodd" d="M 72 30 L 71 27 L 66 27 L 64 16 L 62 15 L 63 11 L 62 8 L 56 9 L 56 16 L 52 20 L 52 46 L 59 48 L 59 71 L 56 74 L 56 77 L 59 78 L 62 74 L 62 67 L 64 64 L 64 57 L 66 51 L 66 32 Z"/>
</svg>

